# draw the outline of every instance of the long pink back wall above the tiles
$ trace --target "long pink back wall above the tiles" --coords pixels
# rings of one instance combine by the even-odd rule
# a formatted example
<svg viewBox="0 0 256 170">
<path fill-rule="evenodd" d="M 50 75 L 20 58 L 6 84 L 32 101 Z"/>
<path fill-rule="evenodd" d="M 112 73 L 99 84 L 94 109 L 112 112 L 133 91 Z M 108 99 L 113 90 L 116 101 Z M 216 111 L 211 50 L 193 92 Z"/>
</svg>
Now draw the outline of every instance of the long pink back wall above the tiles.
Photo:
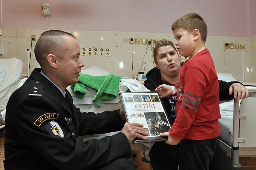
<svg viewBox="0 0 256 170">
<path fill-rule="evenodd" d="M 47 29 L 42 2 L 52 4 L 49 29 L 169 33 L 173 21 L 196 12 L 208 35 L 255 35 L 254 0 L 3 0 L 3 28 Z"/>
</svg>

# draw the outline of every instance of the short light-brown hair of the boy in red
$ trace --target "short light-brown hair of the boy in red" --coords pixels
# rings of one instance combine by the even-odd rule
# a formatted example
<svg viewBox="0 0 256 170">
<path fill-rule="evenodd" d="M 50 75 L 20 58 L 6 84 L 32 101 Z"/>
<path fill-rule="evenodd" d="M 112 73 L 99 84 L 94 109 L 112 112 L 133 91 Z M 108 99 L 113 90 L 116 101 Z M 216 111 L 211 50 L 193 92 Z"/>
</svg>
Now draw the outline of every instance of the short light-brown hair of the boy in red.
<svg viewBox="0 0 256 170">
<path fill-rule="evenodd" d="M 206 41 L 207 25 L 204 19 L 196 13 L 188 13 L 183 17 L 177 19 L 172 24 L 172 31 L 178 28 L 182 28 L 188 32 L 193 32 L 195 29 L 198 29 L 201 34 L 202 41 Z"/>
</svg>

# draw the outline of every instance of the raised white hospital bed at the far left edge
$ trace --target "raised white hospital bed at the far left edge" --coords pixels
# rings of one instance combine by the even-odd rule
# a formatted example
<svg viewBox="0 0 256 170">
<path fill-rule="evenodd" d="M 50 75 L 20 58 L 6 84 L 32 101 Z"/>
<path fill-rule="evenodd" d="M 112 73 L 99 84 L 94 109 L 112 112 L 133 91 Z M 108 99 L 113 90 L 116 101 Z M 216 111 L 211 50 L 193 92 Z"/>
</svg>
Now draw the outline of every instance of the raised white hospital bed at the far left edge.
<svg viewBox="0 0 256 170">
<path fill-rule="evenodd" d="M 16 58 L 0 59 L 0 129 L 4 128 L 5 108 L 18 88 L 23 62 Z"/>
</svg>

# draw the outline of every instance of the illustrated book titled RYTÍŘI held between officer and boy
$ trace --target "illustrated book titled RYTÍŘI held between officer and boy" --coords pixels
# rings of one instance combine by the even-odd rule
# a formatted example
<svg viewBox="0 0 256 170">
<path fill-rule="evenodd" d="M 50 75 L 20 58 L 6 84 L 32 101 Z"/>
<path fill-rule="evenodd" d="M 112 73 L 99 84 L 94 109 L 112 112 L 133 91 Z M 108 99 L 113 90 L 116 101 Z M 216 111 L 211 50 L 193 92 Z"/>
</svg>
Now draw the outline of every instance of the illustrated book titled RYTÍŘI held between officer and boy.
<svg viewBox="0 0 256 170">
<path fill-rule="evenodd" d="M 171 129 L 169 117 L 158 92 L 120 92 L 126 122 L 143 124 L 149 133 L 147 140 L 135 138 L 132 143 L 167 140 L 160 133 Z"/>
</svg>

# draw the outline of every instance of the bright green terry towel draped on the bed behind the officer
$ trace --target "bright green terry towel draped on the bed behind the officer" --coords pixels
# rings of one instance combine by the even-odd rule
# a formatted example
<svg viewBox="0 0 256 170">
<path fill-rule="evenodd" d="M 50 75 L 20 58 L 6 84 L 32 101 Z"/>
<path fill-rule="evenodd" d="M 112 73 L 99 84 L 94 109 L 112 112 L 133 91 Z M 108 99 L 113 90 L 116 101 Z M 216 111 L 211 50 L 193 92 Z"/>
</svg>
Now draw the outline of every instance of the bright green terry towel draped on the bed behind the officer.
<svg viewBox="0 0 256 170">
<path fill-rule="evenodd" d="M 78 77 L 78 82 L 72 84 L 71 89 L 78 98 L 84 98 L 86 94 L 85 86 L 98 90 L 92 101 L 97 102 L 97 106 L 101 106 L 101 101 L 116 98 L 121 78 L 121 76 L 114 74 L 102 76 L 80 74 Z"/>
</svg>

